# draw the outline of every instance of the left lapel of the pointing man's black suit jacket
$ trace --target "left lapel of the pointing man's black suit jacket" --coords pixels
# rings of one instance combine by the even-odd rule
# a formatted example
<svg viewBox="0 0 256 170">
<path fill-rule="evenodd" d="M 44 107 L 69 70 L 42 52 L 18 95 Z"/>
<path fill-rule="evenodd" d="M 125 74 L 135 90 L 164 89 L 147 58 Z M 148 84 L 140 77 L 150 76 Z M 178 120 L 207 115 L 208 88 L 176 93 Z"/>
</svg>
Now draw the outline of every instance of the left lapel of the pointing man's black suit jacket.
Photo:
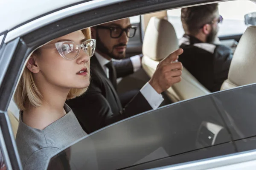
<svg viewBox="0 0 256 170">
<path fill-rule="evenodd" d="M 108 84 L 108 86 L 111 88 L 111 91 L 116 99 L 116 103 L 119 107 L 120 110 L 122 110 L 122 104 L 120 102 L 119 96 L 116 93 L 116 89 L 113 87 L 113 84 L 111 83 L 111 81 L 108 79 L 107 75 L 105 74 L 104 70 L 102 69 L 102 66 L 99 64 L 99 61 L 97 60 L 97 58 L 93 55 L 93 57 L 91 57 L 90 59 L 90 67 L 93 67 L 93 70 L 96 70 L 106 82 Z M 93 74 L 93 73 L 92 73 Z"/>
</svg>

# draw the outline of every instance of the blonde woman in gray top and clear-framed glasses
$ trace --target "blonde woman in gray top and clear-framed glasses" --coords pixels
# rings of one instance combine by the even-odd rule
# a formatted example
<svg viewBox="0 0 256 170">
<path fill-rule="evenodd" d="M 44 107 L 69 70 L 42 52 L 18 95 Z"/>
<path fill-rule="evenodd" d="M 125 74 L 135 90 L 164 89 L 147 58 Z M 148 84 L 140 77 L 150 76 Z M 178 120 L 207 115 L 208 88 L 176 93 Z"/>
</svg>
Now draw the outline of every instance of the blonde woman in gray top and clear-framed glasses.
<svg viewBox="0 0 256 170">
<path fill-rule="evenodd" d="M 86 135 L 65 100 L 89 86 L 95 43 L 89 28 L 76 31 L 38 48 L 26 63 L 15 92 L 24 170 L 44 170 L 51 156 Z"/>
</svg>

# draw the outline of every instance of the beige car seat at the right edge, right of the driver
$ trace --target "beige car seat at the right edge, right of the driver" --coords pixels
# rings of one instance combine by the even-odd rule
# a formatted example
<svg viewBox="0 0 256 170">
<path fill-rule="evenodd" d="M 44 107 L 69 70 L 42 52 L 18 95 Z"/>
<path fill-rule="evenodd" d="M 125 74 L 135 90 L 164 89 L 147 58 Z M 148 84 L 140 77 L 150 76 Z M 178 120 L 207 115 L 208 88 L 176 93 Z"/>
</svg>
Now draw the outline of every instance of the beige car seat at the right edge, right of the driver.
<svg viewBox="0 0 256 170">
<path fill-rule="evenodd" d="M 256 26 L 250 26 L 242 35 L 230 65 L 228 78 L 221 90 L 256 83 Z"/>
</svg>

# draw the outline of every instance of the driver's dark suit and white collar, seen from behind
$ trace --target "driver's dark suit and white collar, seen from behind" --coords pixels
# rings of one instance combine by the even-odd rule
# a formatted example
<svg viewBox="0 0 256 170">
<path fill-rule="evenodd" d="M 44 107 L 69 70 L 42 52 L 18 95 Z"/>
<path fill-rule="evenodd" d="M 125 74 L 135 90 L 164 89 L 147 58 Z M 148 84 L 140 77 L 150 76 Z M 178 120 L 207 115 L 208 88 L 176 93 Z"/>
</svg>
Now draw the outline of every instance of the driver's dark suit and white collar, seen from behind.
<svg viewBox="0 0 256 170">
<path fill-rule="evenodd" d="M 204 43 L 186 34 L 179 45 L 184 50 L 178 59 L 183 66 L 209 91 L 219 91 L 227 79 L 233 57 L 231 48 Z"/>
</svg>

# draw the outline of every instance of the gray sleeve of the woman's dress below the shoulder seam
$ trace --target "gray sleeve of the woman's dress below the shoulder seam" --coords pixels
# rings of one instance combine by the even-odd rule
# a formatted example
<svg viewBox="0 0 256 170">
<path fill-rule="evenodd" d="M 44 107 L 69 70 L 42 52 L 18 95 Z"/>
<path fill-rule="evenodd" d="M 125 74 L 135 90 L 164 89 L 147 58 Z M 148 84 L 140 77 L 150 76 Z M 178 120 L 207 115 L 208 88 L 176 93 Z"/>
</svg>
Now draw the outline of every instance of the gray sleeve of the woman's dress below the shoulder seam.
<svg viewBox="0 0 256 170">
<path fill-rule="evenodd" d="M 59 151 L 56 147 L 44 147 L 35 151 L 25 161 L 23 170 L 45 170 L 48 160 Z"/>
</svg>

